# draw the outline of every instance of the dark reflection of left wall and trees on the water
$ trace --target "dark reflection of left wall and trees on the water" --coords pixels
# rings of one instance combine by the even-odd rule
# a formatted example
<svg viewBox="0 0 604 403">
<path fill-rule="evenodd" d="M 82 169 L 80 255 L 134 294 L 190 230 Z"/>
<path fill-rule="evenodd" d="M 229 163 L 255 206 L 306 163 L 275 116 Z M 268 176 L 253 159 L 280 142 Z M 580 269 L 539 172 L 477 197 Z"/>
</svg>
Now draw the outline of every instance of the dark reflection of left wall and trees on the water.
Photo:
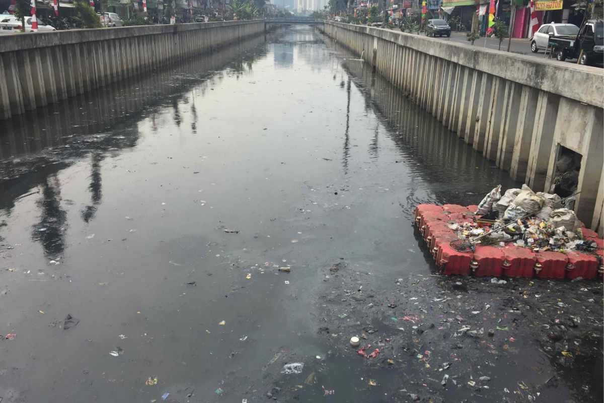
<svg viewBox="0 0 604 403">
<path fill-rule="evenodd" d="M 191 100 L 191 131 L 196 133 L 198 112 L 194 95 L 204 94 L 225 75 L 239 77 L 251 71 L 253 63 L 266 55 L 264 41 L 263 36 L 254 37 L 154 74 L 2 121 L 0 209 L 10 216 L 17 199 L 38 194 L 35 205 L 40 218 L 31 227 L 31 238 L 42 245 L 46 257 L 59 259 L 65 251 L 68 228 L 68 216 L 62 207 L 60 171 L 89 158 L 86 192 L 89 201 L 80 209 L 79 216 L 83 222 L 91 222 L 103 198 L 103 160 L 137 145 L 141 118 L 150 116 L 155 132 L 156 115 L 168 107 L 180 126 L 186 112 L 183 105 Z"/>
</svg>

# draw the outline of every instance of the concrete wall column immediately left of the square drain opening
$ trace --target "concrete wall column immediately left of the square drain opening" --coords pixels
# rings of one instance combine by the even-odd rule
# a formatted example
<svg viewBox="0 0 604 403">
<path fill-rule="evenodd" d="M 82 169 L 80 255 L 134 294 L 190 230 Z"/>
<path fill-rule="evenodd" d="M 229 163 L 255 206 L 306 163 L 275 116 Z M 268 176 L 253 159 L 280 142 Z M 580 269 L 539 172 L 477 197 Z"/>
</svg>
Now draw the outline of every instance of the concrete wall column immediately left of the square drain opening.
<svg viewBox="0 0 604 403">
<path fill-rule="evenodd" d="M 545 187 L 559 102 L 559 96 L 539 91 L 525 179 L 535 192 L 542 191 Z M 553 164 L 553 161 L 551 163 Z"/>
</svg>

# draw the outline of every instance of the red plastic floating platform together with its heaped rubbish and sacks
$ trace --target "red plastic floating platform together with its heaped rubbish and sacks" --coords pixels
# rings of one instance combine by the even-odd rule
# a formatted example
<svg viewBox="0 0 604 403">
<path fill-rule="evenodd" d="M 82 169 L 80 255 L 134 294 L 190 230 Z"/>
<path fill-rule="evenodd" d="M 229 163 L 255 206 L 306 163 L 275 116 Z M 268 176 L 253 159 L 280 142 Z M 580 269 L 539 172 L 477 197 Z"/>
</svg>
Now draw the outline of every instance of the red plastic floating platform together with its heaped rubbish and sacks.
<svg viewBox="0 0 604 403">
<path fill-rule="evenodd" d="M 534 193 L 527 185 L 501 196 L 498 186 L 479 205 L 417 205 L 414 224 L 444 274 L 602 277 L 604 240 L 564 207 L 573 196 Z"/>
</svg>

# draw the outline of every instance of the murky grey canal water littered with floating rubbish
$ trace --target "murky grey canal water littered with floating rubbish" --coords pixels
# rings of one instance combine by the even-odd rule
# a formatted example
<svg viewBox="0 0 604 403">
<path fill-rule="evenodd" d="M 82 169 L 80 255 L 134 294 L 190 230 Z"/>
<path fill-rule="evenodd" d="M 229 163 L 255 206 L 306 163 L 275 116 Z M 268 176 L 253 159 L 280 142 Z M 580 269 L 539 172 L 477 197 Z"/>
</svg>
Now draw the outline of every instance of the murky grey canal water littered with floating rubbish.
<svg viewBox="0 0 604 403">
<path fill-rule="evenodd" d="M 315 28 L 2 126 L 3 403 L 602 401 L 601 283 L 440 276 L 520 184 Z"/>
</svg>

